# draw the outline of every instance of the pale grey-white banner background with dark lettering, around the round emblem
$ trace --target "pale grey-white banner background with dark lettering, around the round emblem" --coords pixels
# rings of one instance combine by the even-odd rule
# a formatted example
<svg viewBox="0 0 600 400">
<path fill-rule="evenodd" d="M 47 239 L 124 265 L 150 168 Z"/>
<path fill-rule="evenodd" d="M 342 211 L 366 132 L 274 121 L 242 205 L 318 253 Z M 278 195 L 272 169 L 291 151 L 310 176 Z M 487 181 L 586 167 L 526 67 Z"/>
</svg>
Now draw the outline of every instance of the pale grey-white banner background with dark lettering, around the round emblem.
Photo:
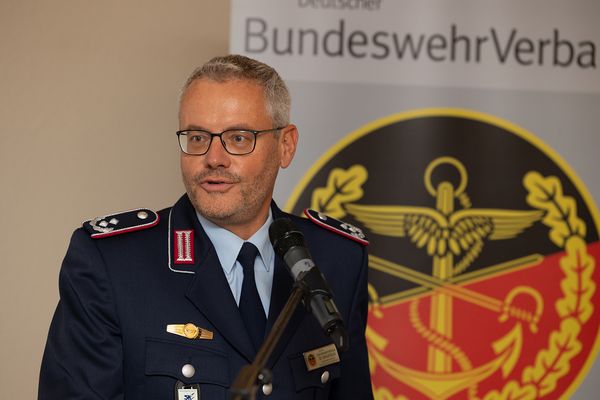
<svg viewBox="0 0 600 400">
<path fill-rule="evenodd" d="M 533 132 L 597 202 L 598 16 L 594 0 L 233 0 L 231 52 L 275 66 L 292 92 L 300 147 L 276 200 L 285 204 L 308 168 L 360 126 L 405 110 L 455 107 Z M 399 59 L 396 42 L 409 34 L 414 46 L 422 41 L 420 50 L 405 49 Z M 595 398 L 598 378 L 596 363 L 573 398 Z"/>
</svg>

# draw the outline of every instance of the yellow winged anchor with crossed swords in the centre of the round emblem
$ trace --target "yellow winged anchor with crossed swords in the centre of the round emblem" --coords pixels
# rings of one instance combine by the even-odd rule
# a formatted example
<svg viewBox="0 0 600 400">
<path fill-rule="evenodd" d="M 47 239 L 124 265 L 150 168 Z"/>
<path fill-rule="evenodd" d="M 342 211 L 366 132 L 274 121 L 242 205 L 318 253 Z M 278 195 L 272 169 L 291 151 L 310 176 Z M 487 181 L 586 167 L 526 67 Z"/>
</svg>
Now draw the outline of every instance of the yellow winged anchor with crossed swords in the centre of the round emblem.
<svg viewBox="0 0 600 400">
<path fill-rule="evenodd" d="M 458 171 L 460 182 L 457 187 L 449 181 L 443 181 L 436 187 L 432 184 L 433 171 L 444 164 Z M 463 288 L 455 284 L 455 281 L 477 258 L 485 241 L 516 237 L 539 220 L 542 212 L 471 208 L 465 193 L 466 169 L 460 161 L 452 157 L 440 157 L 431 162 L 425 170 L 424 183 L 428 193 L 436 199 L 435 209 L 359 204 L 347 204 L 346 209 L 373 233 L 391 237 L 408 236 L 417 248 L 424 248 L 432 257 L 432 276 L 376 256 L 369 257 L 370 268 L 432 290 L 428 331 L 432 333 L 431 336 L 435 336 L 437 345 L 430 338 L 427 371 L 417 371 L 387 359 L 382 353 L 387 339 L 370 328 L 367 330 L 367 336 L 374 344 L 371 351 L 373 357 L 390 375 L 430 398 L 445 399 L 481 382 L 499 368 L 502 369 L 503 375 L 508 375 L 514 368 L 522 347 L 521 322 L 527 322 L 532 332 L 537 331 L 537 323 L 543 312 L 543 299 L 535 289 L 518 286 L 510 291 L 504 301 L 500 301 Z M 455 210 L 456 199 L 463 205 L 462 209 Z M 540 259 L 541 256 L 533 255 L 509 262 L 507 265 L 534 264 Z M 373 287 L 370 287 L 370 295 L 375 300 L 375 315 L 380 315 L 382 311 L 378 308 L 378 297 Z M 519 295 L 533 298 L 535 311 L 514 307 L 513 301 Z M 465 361 L 461 364 L 462 371 L 452 371 L 453 358 L 449 348 L 453 333 L 453 298 L 460 298 L 497 312 L 502 322 L 510 317 L 518 320 L 507 335 L 494 342 L 493 348 L 497 354 L 494 360 L 479 367 L 473 367 Z M 418 300 L 413 300 L 411 315 L 418 313 L 417 307 Z M 418 324 L 418 321 L 414 324 Z M 448 345 L 440 346 L 440 341 Z"/>
</svg>

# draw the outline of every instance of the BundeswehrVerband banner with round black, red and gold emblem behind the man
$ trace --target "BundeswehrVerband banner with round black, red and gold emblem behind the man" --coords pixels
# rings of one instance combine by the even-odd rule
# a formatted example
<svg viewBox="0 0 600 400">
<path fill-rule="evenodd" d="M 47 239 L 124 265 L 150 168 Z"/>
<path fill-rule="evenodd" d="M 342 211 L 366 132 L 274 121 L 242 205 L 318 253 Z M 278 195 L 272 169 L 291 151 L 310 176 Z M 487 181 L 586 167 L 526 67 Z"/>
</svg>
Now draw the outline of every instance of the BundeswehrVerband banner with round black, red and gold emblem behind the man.
<svg viewBox="0 0 600 400">
<path fill-rule="evenodd" d="M 233 1 L 292 92 L 276 200 L 368 236 L 377 399 L 593 398 L 600 5 Z"/>
</svg>

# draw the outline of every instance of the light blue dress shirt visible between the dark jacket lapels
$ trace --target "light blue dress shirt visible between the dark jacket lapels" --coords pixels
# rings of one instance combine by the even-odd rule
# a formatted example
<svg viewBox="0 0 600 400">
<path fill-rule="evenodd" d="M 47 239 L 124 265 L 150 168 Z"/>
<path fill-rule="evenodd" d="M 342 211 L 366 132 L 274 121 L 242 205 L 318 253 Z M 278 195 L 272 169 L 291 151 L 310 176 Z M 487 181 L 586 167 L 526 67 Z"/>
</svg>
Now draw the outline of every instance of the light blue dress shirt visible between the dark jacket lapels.
<svg viewBox="0 0 600 400">
<path fill-rule="evenodd" d="M 241 264 L 237 262 L 237 256 L 244 244 L 244 240 L 204 218 L 198 212 L 196 212 L 196 215 L 217 252 L 233 298 L 239 306 L 244 270 Z M 254 262 L 254 276 L 258 295 L 265 310 L 265 316 L 269 315 L 273 272 L 275 270 L 275 251 L 269 240 L 269 226 L 271 222 L 273 222 L 273 216 L 271 210 L 269 210 L 267 221 L 254 235 L 246 240 L 246 242 L 251 242 L 258 249 L 259 257 L 256 257 L 256 261 Z"/>
</svg>

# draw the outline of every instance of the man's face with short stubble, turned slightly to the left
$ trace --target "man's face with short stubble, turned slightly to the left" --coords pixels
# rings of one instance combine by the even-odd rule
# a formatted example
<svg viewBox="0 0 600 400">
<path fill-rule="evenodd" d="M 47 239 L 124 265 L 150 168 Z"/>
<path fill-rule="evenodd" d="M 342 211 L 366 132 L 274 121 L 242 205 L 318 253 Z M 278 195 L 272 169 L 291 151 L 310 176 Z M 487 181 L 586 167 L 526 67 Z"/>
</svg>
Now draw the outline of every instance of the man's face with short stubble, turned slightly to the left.
<svg viewBox="0 0 600 400">
<path fill-rule="evenodd" d="M 179 126 L 213 133 L 275 128 L 259 85 L 206 79 L 193 82 L 184 93 Z M 250 154 L 227 153 L 217 137 L 202 156 L 182 152 L 183 182 L 192 204 L 217 225 L 238 236 L 251 235 L 267 218 L 277 172 L 290 164 L 296 142 L 296 128 L 289 125 L 279 136 L 259 134 Z"/>
</svg>

